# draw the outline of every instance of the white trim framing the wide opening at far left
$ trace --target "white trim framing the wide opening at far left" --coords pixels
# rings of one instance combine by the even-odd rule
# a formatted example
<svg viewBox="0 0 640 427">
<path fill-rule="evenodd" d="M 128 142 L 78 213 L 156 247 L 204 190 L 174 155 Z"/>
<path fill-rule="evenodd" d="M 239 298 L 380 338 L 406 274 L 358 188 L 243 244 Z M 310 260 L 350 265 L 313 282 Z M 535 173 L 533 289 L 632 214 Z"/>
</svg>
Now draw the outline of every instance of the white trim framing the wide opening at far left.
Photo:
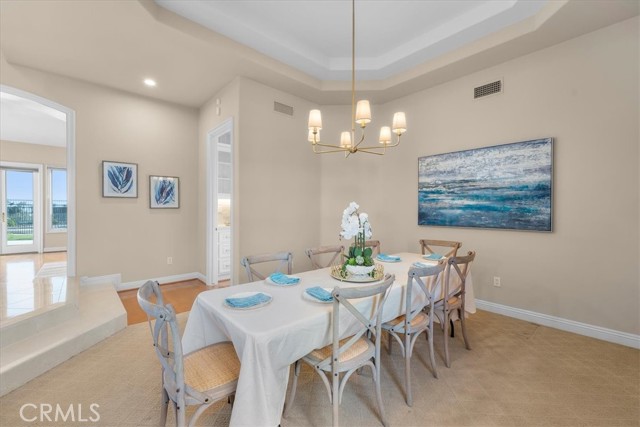
<svg viewBox="0 0 640 427">
<path fill-rule="evenodd" d="M 1 85 L 0 92 L 29 99 L 64 113 L 67 116 L 67 276 L 76 275 L 76 113 L 47 98 Z M 42 241 L 42 239 L 41 239 Z"/>
</svg>

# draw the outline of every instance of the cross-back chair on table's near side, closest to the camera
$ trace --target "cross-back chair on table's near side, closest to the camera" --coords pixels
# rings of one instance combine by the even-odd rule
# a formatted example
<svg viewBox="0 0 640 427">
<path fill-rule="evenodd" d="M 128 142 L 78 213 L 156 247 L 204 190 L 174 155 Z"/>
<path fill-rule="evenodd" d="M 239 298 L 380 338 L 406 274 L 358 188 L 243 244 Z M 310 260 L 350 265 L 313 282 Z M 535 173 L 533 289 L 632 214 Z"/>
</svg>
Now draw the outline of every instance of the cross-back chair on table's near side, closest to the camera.
<svg viewBox="0 0 640 427">
<path fill-rule="evenodd" d="M 300 361 L 311 365 L 327 388 L 333 409 L 333 426 L 338 426 L 338 408 L 342 402 L 342 394 L 349 377 L 361 367 L 369 366 L 373 373 L 380 418 L 384 426 L 388 425 L 380 389 L 380 335 L 382 309 L 394 280 L 395 276 L 386 275 L 381 283 L 370 286 L 334 288 L 331 293 L 333 296 L 332 343 L 312 351 L 295 363 L 293 384 L 286 403 L 285 416 L 288 415 L 295 399 Z M 351 303 L 353 299 L 366 297 L 372 297 L 374 300 L 372 300 L 372 306 L 368 307 L 365 312 L 359 311 Z M 360 323 L 358 325 L 360 329 L 357 333 L 342 339 L 340 337 L 340 323 L 341 320 L 345 320 L 345 316 L 340 314 L 341 309 L 346 309 Z"/>
</svg>

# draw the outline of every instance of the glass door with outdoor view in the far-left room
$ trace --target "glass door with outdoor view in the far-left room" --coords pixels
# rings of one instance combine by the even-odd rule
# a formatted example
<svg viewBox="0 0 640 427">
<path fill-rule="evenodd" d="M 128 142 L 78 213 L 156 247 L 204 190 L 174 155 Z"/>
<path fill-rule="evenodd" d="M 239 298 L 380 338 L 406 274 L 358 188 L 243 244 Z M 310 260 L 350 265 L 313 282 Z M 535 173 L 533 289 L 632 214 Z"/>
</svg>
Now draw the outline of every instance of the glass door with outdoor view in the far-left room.
<svg viewBox="0 0 640 427">
<path fill-rule="evenodd" d="M 1 252 L 39 252 L 40 175 L 38 169 L 0 169 Z"/>
</svg>

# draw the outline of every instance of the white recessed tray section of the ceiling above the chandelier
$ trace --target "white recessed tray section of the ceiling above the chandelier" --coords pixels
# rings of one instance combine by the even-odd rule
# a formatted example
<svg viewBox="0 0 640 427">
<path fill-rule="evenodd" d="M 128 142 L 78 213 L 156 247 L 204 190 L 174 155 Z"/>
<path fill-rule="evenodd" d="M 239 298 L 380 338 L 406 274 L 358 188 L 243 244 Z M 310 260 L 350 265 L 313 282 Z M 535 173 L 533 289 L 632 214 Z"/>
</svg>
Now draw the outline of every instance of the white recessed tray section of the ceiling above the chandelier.
<svg viewBox="0 0 640 427">
<path fill-rule="evenodd" d="M 320 80 L 351 78 L 348 0 L 155 0 Z M 358 78 L 378 80 L 535 15 L 547 0 L 358 0 Z"/>
</svg>

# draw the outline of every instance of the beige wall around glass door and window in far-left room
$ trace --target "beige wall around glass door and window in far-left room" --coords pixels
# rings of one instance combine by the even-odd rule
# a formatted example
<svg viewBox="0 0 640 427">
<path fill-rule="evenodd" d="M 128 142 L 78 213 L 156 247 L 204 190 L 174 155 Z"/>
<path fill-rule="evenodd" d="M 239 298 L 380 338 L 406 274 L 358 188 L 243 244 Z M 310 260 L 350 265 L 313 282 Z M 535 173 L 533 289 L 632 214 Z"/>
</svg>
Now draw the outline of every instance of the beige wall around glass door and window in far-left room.
<svg viewBox="0 0 640 427">
<path fill-rule="evenodd" d="M 67 150 L 62 147 L 52 147 L 50 145 L 26 144 L 15 141 L 0 141 L 0 160 L 6 162 L 35 163 L 42 165 L 44 177 L 42 178 L 42 200 L 43 212 L 47 211 L 47 188 L 49 188 L 49 173 L 47 167 L 64 168 L 67 163 Z M 66 232 L 47 232 L 47 214 L 42 216 L 44 221 L 44 244 L 47 249 L 59 249 L 67 247 Z"/>
</svg>

